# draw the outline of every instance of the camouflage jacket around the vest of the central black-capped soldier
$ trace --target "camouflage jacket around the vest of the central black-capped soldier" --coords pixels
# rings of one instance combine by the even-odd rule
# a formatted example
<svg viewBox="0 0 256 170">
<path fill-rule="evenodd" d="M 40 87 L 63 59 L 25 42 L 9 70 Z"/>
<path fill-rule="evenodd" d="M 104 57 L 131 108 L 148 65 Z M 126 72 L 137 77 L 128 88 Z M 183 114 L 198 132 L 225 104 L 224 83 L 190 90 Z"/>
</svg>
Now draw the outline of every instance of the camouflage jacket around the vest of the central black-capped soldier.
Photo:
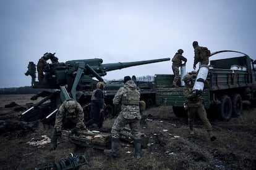
<svg viewBox="0 0 256 170">
<path fill-rule="evenodd" d="M 139 103 L 138 105 L 124 105 L 124 103 L 122 103 L 122 96 L 126 96 L 129 89 L 135 90 L 140 96 L 140 93 L 139 91 L 137 91 L 137 86 L 134 81 L 129 80 L 126 82 L 126 84 L 124 84 L 124 87 L 120 87 L 119 90 L 116 92 L 116 95 L 114 95 L 113 103 L 114 105 L 121 105 L 121 112 L 119 114 L 122 114 L 124 118 L 141 119 L 142 116 L 140 115 Z"/>
</svg>

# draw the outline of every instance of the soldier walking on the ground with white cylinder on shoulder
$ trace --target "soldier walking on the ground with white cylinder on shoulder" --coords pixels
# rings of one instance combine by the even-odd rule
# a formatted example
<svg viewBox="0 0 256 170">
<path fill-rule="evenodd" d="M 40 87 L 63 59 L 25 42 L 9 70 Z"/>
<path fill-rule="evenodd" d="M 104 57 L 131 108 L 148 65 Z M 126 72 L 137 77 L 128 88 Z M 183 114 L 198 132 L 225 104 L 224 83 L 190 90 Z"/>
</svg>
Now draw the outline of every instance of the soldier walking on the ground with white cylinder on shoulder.
<svg viewBox="0 0 256 170">
<path fill-rule="evenodd" d="M 194 119 L 195 115 L 198 114 L 199 118 L 203 121 L 205 124 L 205 129 L 208 132 L 208 135 L 210 137 L 211 141 L 214 141 L 216 139 L 215 136 L 213 136 L 212 132 L 212 127 L 211 124 L 207 118 L 207 112 L 205 111 L 205 107 L 202 103 L 202 92 L 197 91 L 193 92 L 193 86 L 195 83 L 195 79 L 197 78 L 196 74 L 191 74 L 191 75 L 185 75 L 183 80 L 185 82 L 185 87 L 184 87 L 184 96 L 187 97 L 187 107 L 188 107 L 188 124 L 189 124 L 189 130 L 190 134 L 194 134 Z M 202 78 L 198 78 L 197 81 L 201 81 L 205 83 L 205 88 L 209 87 L 208 81 L 204 80 Z"/>
</svg>

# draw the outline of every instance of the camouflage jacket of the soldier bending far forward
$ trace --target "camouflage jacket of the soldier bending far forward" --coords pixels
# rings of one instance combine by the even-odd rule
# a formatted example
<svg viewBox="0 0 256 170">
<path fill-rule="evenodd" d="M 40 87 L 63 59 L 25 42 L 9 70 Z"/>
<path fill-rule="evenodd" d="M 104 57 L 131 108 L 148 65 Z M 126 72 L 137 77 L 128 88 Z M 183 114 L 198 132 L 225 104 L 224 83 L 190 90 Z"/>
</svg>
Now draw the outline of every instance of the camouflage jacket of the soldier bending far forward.
<svg viewBox="0 0 256 170">
<path fill-rule="evenodd" d="M 83 108 L 75 100 L 68 100 L 62 103 L 59 107 L 59 111 L 56 115 L 55 128 L 57 131 L 61 131 L 64 121 L 73 121 L 76 123 L 77 128 L 85 129 L 85 124 L 83 123 L 84 115 Z"/>
</svg>

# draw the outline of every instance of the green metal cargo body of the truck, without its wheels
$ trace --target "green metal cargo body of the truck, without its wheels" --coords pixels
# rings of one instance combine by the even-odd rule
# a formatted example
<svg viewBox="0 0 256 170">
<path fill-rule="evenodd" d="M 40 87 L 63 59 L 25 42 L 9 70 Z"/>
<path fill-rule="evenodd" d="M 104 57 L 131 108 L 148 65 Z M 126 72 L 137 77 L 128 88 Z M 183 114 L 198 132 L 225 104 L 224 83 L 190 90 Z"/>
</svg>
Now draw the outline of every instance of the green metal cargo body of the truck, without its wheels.
<svg viewBox="0 0 256 170">
<path fill-rule="evenodd" d="M 236 51 L 220 51 L 236 52 Z M 218 54 L 220 52 L 215 52 Z M 241 52 L 239 52 L 241 53 Z M 244 54 L 244 53 L 241 53 Z M 256 70 L 255 61 L 246 54 L 242 57 L 230 59 L 211 60 L 213 67 L 209 70 L 207 81 L 210 88 L 203 91 L 203 103 L 205 108 L 210 108 L 212 104 L 220 104 L 220 97 L 224 94 L 232 95 L 239 92 L 243 99 L 255 93 Z M 232 70 L 233 65 L 247 67 L 247 70 Z M 169 105 L 173 107 L 183 107 L 186 97 L 183 95 L 183 87 L 171 87 L 174 75 L 155 75 L 156 84 L 156 105 Z M 249 89 L 248 89 L 249 88 Z"/>
</svg>

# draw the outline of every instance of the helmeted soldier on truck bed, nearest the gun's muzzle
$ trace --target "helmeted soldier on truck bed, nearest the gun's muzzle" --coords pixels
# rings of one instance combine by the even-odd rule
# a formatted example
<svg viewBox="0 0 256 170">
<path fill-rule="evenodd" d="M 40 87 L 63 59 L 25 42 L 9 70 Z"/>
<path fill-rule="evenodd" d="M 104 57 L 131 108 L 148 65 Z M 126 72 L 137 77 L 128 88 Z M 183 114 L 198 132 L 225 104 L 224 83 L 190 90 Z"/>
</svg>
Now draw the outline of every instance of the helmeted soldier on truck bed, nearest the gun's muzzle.
<svg viewBox="0 0 256 170">
<path fill-rule="evenodd" d="M 172 62 L 173 62 L 172 68 L 174 73 L 173 87 L 178 87 L 177 81 L 179 81 L 179 67 L 181 67 L 182 61 L 184 61 L 183 64 L 186 64 L 187 62 L 187 59 L 182 56 L 183 52 L 184 51 L 182 49 L 179 49 L 172 59 Z"/>
</svg>

